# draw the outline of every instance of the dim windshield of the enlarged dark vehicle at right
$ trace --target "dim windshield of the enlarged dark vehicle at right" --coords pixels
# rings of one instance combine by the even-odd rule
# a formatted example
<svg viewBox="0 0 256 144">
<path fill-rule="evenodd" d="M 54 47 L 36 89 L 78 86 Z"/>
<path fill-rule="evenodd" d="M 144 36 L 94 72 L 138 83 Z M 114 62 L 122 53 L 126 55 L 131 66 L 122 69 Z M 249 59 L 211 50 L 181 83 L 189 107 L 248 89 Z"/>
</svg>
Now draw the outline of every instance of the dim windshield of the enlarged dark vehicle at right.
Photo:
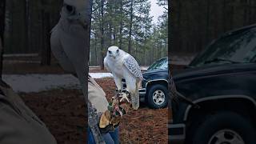
<svg viewBox="0 0 256 144">
<path fill-rule="evenodd" d="M 190 66 L 254 62 L 256 28 L 240 30 L 218 39 L 190 63 Z"/>
</svg>

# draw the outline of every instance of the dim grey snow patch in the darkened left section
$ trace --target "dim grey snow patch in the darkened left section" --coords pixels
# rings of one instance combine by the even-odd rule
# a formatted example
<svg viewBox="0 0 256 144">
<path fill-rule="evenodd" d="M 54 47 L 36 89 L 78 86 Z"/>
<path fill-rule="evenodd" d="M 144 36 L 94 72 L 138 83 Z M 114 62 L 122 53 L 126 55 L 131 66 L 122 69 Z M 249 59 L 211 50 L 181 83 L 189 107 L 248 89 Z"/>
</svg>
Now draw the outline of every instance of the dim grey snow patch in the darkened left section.
<svg viewBox="0 0 256 144">
<path fill-rule="evenodd" d="M 3 80 L 15 92 L 39 92 L 54 88 L 79 89 L 79 82 L 71 74 L 4 74 Z"/>
</svg>

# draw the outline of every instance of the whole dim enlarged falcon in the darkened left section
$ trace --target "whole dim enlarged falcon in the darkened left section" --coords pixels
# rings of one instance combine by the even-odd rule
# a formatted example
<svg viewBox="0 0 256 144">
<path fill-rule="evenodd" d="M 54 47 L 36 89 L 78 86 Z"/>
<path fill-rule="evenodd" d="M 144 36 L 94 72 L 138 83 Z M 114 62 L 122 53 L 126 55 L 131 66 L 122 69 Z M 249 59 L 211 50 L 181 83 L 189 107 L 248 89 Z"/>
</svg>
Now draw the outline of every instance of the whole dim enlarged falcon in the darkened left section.
<svg viewBox="0 0 256 144">
<path fill-rule="evenodd" d="M 92 0 L 63 0 L 61 18 L 51 31 L 50 37 L 55 58 L 64 70 L 77 75 L 85 97 L 91 3 Z"/>
</svg>

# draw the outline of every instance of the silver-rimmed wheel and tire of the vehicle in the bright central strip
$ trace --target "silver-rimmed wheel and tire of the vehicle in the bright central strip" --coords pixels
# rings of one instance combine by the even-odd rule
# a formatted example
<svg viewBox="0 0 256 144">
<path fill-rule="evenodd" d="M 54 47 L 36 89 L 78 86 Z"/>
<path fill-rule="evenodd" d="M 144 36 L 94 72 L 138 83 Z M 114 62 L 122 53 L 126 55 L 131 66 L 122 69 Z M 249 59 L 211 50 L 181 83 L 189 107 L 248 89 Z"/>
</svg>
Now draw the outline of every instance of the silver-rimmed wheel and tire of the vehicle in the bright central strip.
<svg viewBox="0 0 256 144">
<path fill-rule="evenodd" d="M 168 90 L 166 86 L 156 84 L 150 87 L 147 94 L 147 103 L 150 108 L 159 109 L 167 106 Z"/>
</svg>

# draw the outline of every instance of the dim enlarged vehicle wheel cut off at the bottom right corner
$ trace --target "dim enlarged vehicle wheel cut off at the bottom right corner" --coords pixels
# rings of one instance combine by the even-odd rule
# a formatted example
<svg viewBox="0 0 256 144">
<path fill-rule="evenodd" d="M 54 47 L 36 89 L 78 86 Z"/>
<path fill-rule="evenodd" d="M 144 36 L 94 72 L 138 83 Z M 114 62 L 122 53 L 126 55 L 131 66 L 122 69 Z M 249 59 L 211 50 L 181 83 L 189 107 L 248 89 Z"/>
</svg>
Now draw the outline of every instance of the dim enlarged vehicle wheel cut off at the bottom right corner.
<svg viewBox="0 0 256 144">
<path fill-rule="evenodd" d="M 192 133 L 191 133 L 192 132 Z M 210 115 L 198 128 L 190 130 L 190 144 L 255 144 L 255 129 L 250 120 L 235 112 Z"/>
</svg>

